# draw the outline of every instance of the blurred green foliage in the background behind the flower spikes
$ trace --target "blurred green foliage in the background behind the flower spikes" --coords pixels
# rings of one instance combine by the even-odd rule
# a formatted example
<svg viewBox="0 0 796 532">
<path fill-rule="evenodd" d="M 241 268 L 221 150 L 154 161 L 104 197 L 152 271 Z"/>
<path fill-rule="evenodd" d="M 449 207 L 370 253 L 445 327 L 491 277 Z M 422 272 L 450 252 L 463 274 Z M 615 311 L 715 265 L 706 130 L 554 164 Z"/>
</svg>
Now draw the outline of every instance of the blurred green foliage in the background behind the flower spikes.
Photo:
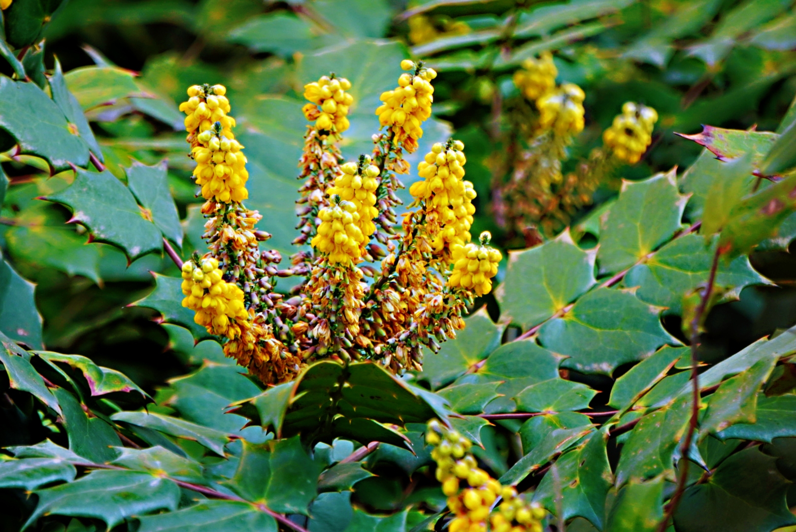
<svg viewBox="0 0 796 532">
<path fill-rule="evenodd" d="M 123 178 L 119 168 L 131 158 L 167 158 L 185 229 L 182 256 L 204 247 L 177 109 L 191 84 L 228 87 L 252 175 L 247 205 L 263 213 L 262 228 L 274 234 L 269 245 L 287 255 L 306 125 L 302 86 L 330 70 L 353 83 L 346 157 L 370 151 L 373 110 L 399 75 L 401 58 L 423 59 L 439 72 L 434 117 L 418 153 L 454 134 L 462 139 L 467 178 L 478 191 L 473 233 L 490 229 L 503 248 L 527 244 L 501 230 L 490 209 L 509 127 L 505 103 L 518 96 L 512 74 L 525 59 L 552 50 L 558 82 L 586 92 L 586 129 L 570 147 L 569 166 L 599 145 L 626 100 L 657 109 L 650 150 L 617 172 L 626 179 L 692 164 L 700 147 L 674 133 L 696 133 L 701 123 L 774 131 L 796 94 L 792 0 L 70 0 L 43 37 L 44 53 L 31 49 L 26 69 L 35 80 L 36 65 L 54 68 L 57 57 L 111 171 Z M 5 63 L 0 70 L 12 72 Z M 0 221 L 25 221 L 0 225 L 0 245 L 37 283 L 45 345 L 122 370 L 148 391 L 185 373 L 176 341 L 153 322 L 159 314 L 132 305 L 154 287 L 150 272 L 176 274 L 170 260 L 149 255 L 127 264 L 109 245 L 84 245 L 84 231 L 64 225 L 66 209 L 36 200 L 63 189 L 71 172 L 48 178 L 40 159 L 0 160 L 11 180 Z M 616 183 L 576 213 L 576 234 L 588 237 L 590 213 L 615 197 Z M 751 257 L 780 287 L 796 282 L 788 244 Z M 497 312 L 493 300 L 482 303 Z M 791 288 L 747 288 L 712 312 L 705 356 L 724 358 L 792 325 L 794 303 Z M 670 320 L 666 328 L 681 336 L 679 318 Z"/>
</svg>

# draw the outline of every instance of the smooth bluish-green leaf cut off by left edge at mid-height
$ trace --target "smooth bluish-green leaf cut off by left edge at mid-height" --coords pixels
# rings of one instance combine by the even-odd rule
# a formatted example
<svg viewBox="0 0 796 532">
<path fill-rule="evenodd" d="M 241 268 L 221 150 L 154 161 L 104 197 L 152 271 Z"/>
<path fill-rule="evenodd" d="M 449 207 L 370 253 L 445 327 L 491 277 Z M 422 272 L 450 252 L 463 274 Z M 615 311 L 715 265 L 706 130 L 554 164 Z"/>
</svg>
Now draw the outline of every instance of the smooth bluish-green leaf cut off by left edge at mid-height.
<svg viewBox="0 0 796 532">
<path fill-rule="evenodd" d="M 0 332 L 16 342 L 41 349 L 41 315 L 33 299 L 35 285 L 20 276 L 0 252 Z"/>
</svg>

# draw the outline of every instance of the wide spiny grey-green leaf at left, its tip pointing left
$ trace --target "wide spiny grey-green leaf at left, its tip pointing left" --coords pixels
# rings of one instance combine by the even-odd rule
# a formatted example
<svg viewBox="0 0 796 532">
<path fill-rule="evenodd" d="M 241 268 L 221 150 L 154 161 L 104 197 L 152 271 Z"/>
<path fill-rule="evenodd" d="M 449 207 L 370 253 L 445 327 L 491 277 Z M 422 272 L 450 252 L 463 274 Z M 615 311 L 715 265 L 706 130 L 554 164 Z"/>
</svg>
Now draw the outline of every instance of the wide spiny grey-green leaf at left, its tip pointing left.
<svg viewBox="0 0 796 532">
<path fill-rule="evenodd" d="M 91 231 L 94 240 L 114 244 L 131 260 L 161 249 L 158 228 L 135 203 L 127 186 L 111 172 L 77 170 L 75 182 L 49 196 L 72 210 L 72 220 Z"/>
</svg>

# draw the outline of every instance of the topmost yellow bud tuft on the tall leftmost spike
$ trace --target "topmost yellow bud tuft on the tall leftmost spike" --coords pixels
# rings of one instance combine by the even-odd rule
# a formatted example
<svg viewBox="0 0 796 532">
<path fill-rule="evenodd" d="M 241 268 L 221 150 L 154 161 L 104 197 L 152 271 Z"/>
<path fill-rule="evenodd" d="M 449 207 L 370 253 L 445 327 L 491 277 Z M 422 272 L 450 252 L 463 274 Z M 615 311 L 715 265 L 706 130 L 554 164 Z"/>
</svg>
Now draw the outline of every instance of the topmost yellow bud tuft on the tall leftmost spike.
<svg viewBox="0 0 796 532">
<path fill-rule="evenodd" d="M 229 100 L 224 96 L 227 88 L 224 85 L 192 85 L 188 88 L 188 101 L 180 104 L 180 111 L 185 115 L 186 139 L 191 147 L 198 144 L 197 132 L 208 131 L 214 123 L 221 124 L 220 134 L 227 139 L 234 139 L 232 127 L 235 119 L 229 116 Z"/>
</svg>

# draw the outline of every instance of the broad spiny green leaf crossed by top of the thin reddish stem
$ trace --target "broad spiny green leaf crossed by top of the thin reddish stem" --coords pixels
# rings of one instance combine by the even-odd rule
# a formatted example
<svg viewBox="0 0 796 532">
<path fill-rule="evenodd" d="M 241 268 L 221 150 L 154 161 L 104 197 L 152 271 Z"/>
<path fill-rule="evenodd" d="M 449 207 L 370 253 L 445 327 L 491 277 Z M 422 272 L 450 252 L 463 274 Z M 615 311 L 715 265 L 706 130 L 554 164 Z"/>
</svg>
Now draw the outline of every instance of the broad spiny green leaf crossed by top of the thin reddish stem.
<svg viewBox="0 0 796 532">
<path fill-rule="evenodd" d="M 709 246 L 703 237 L 688 234 L 665 244 L 643 264 L 627 272 L 622 284 L 638 287 L 638 299 L 657 307 L 666 307 L 664 314 L 682 313 L 683 295 L 704 284 L 716 252 L 717 240 Z M 722 300 L 739 299 L 740 291 L 751 284 L 769 281 L 751 267 L 747 256 L 739 256 L 729 263 L 720 261 L 716 285 L 727 288 Z"/>
</svg>

